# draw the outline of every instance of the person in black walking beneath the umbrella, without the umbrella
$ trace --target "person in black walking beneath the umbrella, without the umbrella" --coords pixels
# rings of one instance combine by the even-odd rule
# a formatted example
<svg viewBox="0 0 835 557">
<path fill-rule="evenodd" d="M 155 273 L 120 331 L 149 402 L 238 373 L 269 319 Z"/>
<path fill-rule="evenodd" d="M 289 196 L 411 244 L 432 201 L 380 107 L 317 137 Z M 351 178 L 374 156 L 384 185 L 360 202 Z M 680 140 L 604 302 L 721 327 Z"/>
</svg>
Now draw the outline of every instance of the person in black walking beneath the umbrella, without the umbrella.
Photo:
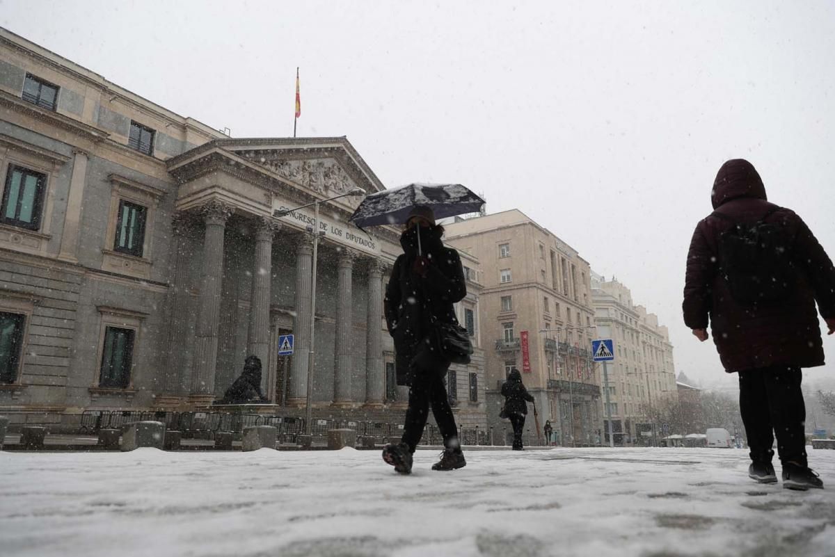
<svg viewBox="0 0 835 557">
<path fill-rule="evenodd" d="M 394 262 L 386 288 L 384 310 L 394 341 L 397 384 L 409 388 L 409 404 L 402 439 L 388 444 L 382 459 L 401 474 L 412 472 L 412 454 L 423 436 L 430 406 L 444 446 L 432 469 L 467 465 L 443 384 L 450 363 L 438 358 L 433 343 L 433 324 L 458 324 L 453 304 L 467 295 L 461 258 L 453 248 L 443 246 L 442 235 L 443 227 L 435 223 L 431 209 L 414 208 L 400 236 L 403 253 Z"/>
</svg>

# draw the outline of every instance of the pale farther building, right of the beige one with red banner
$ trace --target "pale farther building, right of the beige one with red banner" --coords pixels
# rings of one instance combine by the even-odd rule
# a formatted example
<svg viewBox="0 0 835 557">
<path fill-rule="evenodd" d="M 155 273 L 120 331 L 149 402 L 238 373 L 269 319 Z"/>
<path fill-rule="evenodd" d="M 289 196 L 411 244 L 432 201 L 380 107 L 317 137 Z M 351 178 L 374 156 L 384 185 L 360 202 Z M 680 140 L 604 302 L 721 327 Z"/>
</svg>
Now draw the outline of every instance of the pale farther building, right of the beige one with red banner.
<svg viewBox="0 0 835 557">
<path fill-rule="evenodd" d="M 655 314 L 633 303 L 624 284 L 597 273 L 591 276 L 597 334 L 613 339 L 615 347 L 615 361 L 608 366 L 615 444 L 655 443 L 665 436 L 668 424 L 653 423 L 652 409 L 663 399 L 678 399 L 670 334 Z"/>
</svg>

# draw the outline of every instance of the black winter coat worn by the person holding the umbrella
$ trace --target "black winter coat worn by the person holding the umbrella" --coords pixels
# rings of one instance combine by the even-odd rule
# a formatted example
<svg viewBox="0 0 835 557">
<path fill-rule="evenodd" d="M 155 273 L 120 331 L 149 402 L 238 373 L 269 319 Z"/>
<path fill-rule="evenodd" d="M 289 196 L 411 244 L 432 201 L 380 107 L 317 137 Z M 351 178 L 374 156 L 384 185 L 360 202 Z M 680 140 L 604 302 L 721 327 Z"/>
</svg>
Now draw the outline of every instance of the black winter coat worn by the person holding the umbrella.
<svg viewBox="0 0 835 557">
<path fill-rule="evenodd" d="M 430 262 L 425 277 L 412 273 L 412 263 L 417 257 L 415 228 L 402 233 L 403 254 L 394 262 L 386 287 L 384 310 L 388 333 L 394 340 L 398 385 L 411 385 L 415 374 L 420 373 L 412 361 L 429 346 L 432 318 L 458 324 L 453 304 L 467 295 L 461 258 L 456 250 L 443 246 L 441 230 L 420 228 L 422 253 Z M 420 361 L 426 366 L 427 359 Z M 443 374 L 449 362 L 436 359 L 431 367 Z"/>
</svg>

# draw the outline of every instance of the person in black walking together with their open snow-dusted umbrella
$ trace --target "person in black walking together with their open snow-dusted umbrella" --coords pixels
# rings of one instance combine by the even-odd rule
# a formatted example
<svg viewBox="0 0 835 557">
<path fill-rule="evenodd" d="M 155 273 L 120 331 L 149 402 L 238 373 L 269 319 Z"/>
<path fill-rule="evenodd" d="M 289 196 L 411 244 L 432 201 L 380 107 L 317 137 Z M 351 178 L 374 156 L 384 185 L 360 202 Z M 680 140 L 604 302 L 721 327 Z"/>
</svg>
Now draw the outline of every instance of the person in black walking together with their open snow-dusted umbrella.
<svg viewBox="0 0 835 557">
<path fill-rule="evenodd" d="M 467 286 L 461 258 L 455 249 L 443 245 L 443 226 L 435 219 L 476 213 L 483 203 L 460 184 L 413 183 L 372 193 L 351 217 L 358 227 L 405 224 L 400 236 L 403 253 L 394 262 L 384 300 L 397 384 L 409 388 L 409 402 L 401 441 L 388 444 L 382 459 L 401 474 L 412 472 L 412 454 L 423 436 L 430 407 L 444 446 L 432 469 L 453 470 L 467 464 L 443 384 L 452 359 L 444 351 L 448 343 L 438 341 L 439 324 L 458 327 L 453 304 L 467 295 Z M 468 339 L 464 342 L 468 344 Z"/>
</svg>

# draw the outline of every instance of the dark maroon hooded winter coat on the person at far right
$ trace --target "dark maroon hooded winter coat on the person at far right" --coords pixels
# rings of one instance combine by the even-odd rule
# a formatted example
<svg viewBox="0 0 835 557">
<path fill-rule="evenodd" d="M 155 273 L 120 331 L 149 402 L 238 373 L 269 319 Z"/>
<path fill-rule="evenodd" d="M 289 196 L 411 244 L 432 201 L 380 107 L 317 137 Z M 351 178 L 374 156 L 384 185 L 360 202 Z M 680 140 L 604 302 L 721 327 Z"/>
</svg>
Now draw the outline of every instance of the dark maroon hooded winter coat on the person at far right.
<svg viewBox="0 0 835 557">
<path fill-rule="evenodd" d="M 782 223 L 791 238 L 792 258 L 798 269 L 797 288 L 779 304 L 746 307 L 731 298 L 718 272 L 721 233 L 735 222 L 753 223 L 769 209 L 766 188 L 757 170 L 745 160 L 728 161 L 716 176 L 712 193 L 717 213 L 696 226 L 687 254 L 684 289 L 685 324 L 706 329 L 710 317 L 713 342 L 727 372 L 786 364 L 823 365 L 821 331 L 815 302 L 824 318 L 835 317 L 835 267 L 802 218 L 778 208 L 767 223 Z"/>
</svg>

